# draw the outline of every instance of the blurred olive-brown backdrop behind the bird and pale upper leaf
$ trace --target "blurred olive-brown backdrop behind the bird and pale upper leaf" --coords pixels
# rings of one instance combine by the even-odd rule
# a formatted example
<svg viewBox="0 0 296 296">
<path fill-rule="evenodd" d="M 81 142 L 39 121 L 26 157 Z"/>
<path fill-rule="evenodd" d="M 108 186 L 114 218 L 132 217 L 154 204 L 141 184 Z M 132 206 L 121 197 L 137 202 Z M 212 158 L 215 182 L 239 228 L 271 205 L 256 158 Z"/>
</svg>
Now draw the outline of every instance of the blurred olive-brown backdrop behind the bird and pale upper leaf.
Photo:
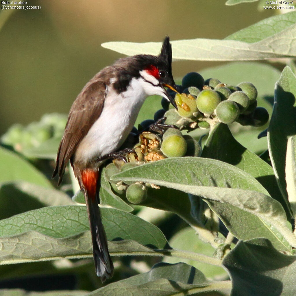
<svg viewBox="0 0 296 296">
<path fill-rule="evenodd" d="M 103 42 L 162 41 L 165 35 L 171 40 L 221 39 L 274 13 L 258 12 L 258 2 L 226 6 L 208 0 L 28 4 L 41 5 L 41 10 L 17 10 L 0 31 L 0 135 L 13 123 L 68 113 L 85 83 L 123 56 L 102 48 Z M 181 78 L 217 64 L 175 62 L 173 74 Z"/>
</svg>

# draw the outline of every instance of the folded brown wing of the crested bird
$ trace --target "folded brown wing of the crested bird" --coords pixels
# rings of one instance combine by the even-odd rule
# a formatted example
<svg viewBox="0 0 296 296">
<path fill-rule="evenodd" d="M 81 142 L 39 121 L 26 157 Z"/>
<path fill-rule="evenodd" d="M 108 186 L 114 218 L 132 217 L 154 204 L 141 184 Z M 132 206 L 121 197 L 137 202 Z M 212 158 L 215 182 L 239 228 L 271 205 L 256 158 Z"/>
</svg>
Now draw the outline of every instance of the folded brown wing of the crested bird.
<svg viewBox="0 0 296 296">
<path fill-rule="evenodd" d="M 68 122 L 57 152 L 56 167 L 52 175 L 53 178 L 57 174 L 59 175 L 58 184 L 61 183 L 65 167 L 75 153 L 78 144 L 102 112 L 107 88 L 103 81 L 97 79 L 95 76 L 86 84 L 70 109 Z"/>
</svg>

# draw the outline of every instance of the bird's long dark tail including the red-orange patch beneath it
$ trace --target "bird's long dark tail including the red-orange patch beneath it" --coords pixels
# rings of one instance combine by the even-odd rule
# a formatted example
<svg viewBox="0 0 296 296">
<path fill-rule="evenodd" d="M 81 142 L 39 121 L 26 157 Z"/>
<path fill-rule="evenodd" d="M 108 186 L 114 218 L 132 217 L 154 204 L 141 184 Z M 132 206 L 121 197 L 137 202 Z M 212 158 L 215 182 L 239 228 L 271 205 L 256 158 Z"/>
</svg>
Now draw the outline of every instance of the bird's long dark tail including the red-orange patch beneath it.
<svg viewBox="0 0 296 296">
<path fill-rule="evenodd" d="M 98 206 L 101 169 L 84 169 L 81 171 L 82 190 L 86 201 L 87 213 L 91 229 L 94 264 L 97 276 L 104 282 L 113 275 L 113 263 L 108 251 L 107 237 L 102 224 Z M 82 185 L 82 184 L 81 184 Z"/>
</svg>

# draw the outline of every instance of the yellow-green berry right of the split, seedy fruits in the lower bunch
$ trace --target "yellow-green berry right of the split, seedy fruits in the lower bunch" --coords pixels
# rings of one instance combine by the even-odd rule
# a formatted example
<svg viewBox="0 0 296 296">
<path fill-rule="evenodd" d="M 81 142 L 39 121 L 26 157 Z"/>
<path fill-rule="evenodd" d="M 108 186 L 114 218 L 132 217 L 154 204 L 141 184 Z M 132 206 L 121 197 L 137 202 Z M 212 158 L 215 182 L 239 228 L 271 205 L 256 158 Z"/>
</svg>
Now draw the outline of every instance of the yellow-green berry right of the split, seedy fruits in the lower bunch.
<svg viewBox="0 0 296 296">
<path fill-rule="evenodd" d="M 161 151 L 167 157 L 181 157 L 186 154 L 187 144 L 183 136 L 170 135 L 161 143 Z"/>
</svg>

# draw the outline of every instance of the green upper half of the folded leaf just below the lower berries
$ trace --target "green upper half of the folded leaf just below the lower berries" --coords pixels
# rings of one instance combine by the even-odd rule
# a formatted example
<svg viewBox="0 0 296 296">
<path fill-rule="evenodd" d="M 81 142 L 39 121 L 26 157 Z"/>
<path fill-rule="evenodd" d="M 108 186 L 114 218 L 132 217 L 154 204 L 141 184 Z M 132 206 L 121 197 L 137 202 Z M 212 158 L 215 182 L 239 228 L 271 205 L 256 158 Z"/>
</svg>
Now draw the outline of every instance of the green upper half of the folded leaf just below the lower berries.
<svg viewBox="0 0 296 296">
<path fill-rule="evenodd" d="M 183 185 L 218 186 L 268 194 L 255 178 L 243 170 L 219 160 L 201 157 L 166 158 L 126 170 L 113 176 L 112 180 L 145 181 L 177 190 L 182 190 Z M 171 187 L 170 184 L 175 185 Z M 180 188 L 176 188 L 179 184 Z"/>
</svg>

